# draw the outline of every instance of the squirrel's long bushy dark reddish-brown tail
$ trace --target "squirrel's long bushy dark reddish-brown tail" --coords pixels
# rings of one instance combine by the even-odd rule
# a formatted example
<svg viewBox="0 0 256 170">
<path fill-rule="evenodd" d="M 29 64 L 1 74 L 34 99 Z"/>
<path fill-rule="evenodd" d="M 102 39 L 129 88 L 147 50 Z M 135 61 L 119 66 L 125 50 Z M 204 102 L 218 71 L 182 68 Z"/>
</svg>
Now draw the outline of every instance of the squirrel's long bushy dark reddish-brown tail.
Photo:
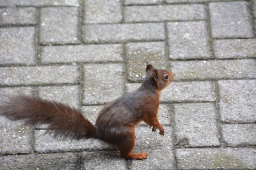
<svg viewBox="0 0 256 170">
<path fill-rule="evenodd" d="M 96 138 L 96 128 L 83 115 L 65 104 L 40 97 L 17 96 L 0 106 L 0 115 L 24 120 L 26 125 L 48 124 L 47 132 L 71 139 Z"/>
</svg>

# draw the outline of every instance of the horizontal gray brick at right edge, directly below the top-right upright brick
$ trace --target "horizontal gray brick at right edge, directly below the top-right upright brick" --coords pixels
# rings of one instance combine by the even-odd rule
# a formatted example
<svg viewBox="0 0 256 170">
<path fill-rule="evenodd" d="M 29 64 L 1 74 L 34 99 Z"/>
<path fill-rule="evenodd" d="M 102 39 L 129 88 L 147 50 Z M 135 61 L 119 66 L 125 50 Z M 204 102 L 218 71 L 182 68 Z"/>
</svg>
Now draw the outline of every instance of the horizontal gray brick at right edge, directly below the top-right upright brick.
<svg viewBox="0 0 256 170">
<path fill-rule="evenodd" d="M 214 41 L 217 58 L 256 57 L 256 39 L 221 39 Z"/>
</svg>

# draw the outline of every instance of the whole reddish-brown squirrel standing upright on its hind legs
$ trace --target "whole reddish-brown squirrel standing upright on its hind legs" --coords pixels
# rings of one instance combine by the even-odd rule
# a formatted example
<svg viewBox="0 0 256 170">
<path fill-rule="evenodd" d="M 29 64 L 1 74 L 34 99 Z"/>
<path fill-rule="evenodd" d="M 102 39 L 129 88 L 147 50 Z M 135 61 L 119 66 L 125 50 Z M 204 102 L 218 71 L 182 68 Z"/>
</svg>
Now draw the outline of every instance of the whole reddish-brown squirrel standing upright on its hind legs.
<svg viewBox="0 0 256 170">
<path fill-rule="evenodd" d="M 10 120 L 24 120 L 25 125 L 48 124 L 47 133 L 70 139 L 100 139 L 114 145 L 125 159 L 147 159 L 147 153 L 132 153 L 136 125 L 144 121 L 152 131 L 163 126 L 158 120 L 161 90 L 173 80 L 173 73 L 147 65 L 141 87 L 107 103 L 93 125 L 75 108 L 40 97 L 10 97 L 0 106 L 0 115 Z"/>
</svg>

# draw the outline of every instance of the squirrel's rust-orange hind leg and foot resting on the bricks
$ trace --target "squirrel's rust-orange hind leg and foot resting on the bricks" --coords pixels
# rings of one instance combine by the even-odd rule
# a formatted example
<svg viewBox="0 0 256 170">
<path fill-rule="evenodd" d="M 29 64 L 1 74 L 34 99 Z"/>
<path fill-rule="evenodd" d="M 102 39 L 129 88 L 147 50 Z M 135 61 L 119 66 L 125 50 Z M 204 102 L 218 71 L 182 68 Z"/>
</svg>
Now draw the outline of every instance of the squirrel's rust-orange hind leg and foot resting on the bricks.
<svg viewBox="0 0 256 170">
<path fill-rule="evenodd" d="M 125 138 L 120 141 L 118 150 L 125 159 L 147 159 L 148 153 L 131 153 L 135 146 L 135 130 L 132 126 L 126 126 Z"/>
</svg>

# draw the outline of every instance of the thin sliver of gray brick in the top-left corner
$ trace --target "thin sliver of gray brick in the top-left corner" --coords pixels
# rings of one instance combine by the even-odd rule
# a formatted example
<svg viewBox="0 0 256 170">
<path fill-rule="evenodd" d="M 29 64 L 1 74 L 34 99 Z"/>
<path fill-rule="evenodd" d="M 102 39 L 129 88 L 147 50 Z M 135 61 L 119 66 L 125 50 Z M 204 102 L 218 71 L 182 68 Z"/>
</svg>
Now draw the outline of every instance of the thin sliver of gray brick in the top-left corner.
<svg viewBox="0 0 256 170">
<path fill-rule="evenodd" d="M 79 0 L 0 0 L 0 6 L 79 6 Z"/>
</svg>

